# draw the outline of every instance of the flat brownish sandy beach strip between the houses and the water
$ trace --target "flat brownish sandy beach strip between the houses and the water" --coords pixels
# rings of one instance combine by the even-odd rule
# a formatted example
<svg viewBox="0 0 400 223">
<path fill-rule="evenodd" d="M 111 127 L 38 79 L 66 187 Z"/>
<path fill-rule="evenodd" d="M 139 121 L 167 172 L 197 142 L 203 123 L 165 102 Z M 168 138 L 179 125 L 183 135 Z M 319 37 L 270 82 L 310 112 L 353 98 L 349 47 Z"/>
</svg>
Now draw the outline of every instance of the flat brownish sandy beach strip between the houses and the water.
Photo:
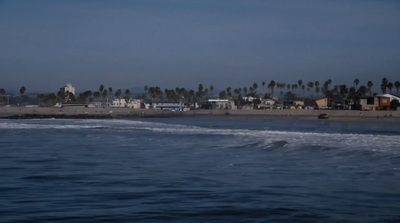
<svg viewBox="0 0 400 223">
<path fill-rule="evenodd" d="M 318 119 L 321 113 L 329 119 Z M 1 119 L 114 119 L 114 118 L 248 118 L 294 119 L 319 121 L 373 121 L 400 123 L 400 111 L 352 111 L 352 110 L 191 110 L 184 112 L 130 108 L 47 108 L 47 107 L 0 107 Z"/>
</svg>

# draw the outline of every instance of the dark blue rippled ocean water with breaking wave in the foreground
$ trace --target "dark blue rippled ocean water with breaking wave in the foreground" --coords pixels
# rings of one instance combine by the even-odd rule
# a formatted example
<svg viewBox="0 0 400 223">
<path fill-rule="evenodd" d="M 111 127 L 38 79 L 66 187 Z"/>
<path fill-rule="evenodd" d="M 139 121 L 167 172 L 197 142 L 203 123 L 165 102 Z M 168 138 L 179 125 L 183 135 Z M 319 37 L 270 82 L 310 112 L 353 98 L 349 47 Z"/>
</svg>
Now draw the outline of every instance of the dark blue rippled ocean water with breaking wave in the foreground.
<svg viewBox="0 0 400 223">
<path fill-rule="evenodd" d="M 0 120 L 0 222 L 400 222 L 400 128 Z"/>
</svg>

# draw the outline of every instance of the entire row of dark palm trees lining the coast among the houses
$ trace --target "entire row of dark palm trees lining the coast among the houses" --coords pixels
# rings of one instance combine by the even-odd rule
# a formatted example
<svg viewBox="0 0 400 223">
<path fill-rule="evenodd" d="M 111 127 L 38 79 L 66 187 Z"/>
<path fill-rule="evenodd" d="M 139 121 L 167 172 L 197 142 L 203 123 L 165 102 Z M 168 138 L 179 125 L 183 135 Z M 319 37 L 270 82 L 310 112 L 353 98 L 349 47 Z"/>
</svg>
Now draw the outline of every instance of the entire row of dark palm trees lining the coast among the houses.
<svg viewBox="0 0 400 223">
<path fill-rule="evenodd" d="M 185 103 L 201 102 L 207 98 L 219 97 L 221 99 L 232 98 L 236 100 L 243 100 L 244 97 L 290 97 L 293 98 L 316 98 L 320 96 L 334 97 L 335 95 L 341 95 L 345 98 L 355 98 L 366 96 L 367 94 L 372 96 L 372 88 L 374 83 L 367 81 L 365 85 L 361 84 L 361 81 L 356 78 L 353 81 L 352 86 L 345 84 L 333 85 L 333 81 L 328 79 L 324 82 L 319 81 L 303 81 L 298 80 L 295 83 L 286 84 L 284 82 L 276 82 L 271 80 L 269 82 L 261 82 L 262 89 L 258 83 L 254 82 L 249 87 L 239 87 L 233 89 L 227 87 L 226 89 L 215 93 L 214 86 L 210 85 L 208 88 L 204 87 L 203 84 L 199 84 L 197 90 L 186 89 L 183 87 L 176 87 L 175 89 L 164 89 L 162 90 L 158 86 L 144 86 L 145 94 L 141 95 L 140 98 L 148 99 L 150 101 L 181 101 Z M 266 90 L 266 88 L 268 90 Z M 391 82 L 387 78 L 383 78 L 380 83 L 380 90 L 382 93 L 392 93 L 396 89 L 399 92 L 400 82 Z M 22 86 L 20 88 L 20 94 L 23 96 L 26 92 L 26 88 Z M 315 94 L 314 94 L 315 93 Z M 4 89 L 0 89 L 0 96 L 5 96 L 6 92 Z M 125 98 L 129 99 L 132 96 L 129 89 L 122 91 L 117 89 L 114 91 L 112 87 L 106 88 L 103 84 L 99 86 L 97 91 L 87 90 L 79 94 L 78 96 L 72 95 L 69 92 L 58 92 L 58 94 L 41 94 L 38 95 L 44 104 L 53 104 L 57 102 L 70 102 L 70 103 L 90 103 L 93 101 L 109 102 L 114 98 Z M 0 97 L 1 98 L 1 97 Z"/>
</svg>

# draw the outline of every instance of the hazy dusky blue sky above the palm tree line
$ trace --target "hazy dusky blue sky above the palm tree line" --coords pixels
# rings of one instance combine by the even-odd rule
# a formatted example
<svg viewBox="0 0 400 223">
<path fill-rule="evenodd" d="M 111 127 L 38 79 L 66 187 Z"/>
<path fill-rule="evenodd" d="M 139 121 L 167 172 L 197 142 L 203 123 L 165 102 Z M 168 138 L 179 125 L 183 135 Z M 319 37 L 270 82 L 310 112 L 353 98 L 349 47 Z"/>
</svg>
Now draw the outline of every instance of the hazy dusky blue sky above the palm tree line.
<svg viewBox="0 0 400 223">
<path fill-rule="evenodd" d="M 0 0 L 0 88 L 400 80 L 400 1 Z"/>
</svg>

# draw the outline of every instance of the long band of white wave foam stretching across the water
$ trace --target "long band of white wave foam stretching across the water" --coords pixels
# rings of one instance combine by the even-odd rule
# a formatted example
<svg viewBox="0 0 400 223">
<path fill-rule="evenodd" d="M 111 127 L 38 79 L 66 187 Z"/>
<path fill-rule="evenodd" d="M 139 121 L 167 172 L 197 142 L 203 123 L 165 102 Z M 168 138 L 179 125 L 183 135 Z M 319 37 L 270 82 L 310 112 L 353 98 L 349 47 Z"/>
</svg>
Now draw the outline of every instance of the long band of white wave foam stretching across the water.
<svg viewBox="0 0 400 223">
<path fill-rule="evenodd" d="M 207 128 L 137 120 L 29 120 L 0 122 L 0 129 L 95 129 L 110 128 L 122 131 L 145 130 L 173 135 L 235 136 L 243 141 L 268 145 L 286 141 L 296 146 L 358 147 L 372 150 L 393 150 L 400 144 L 397 135 L 372 135 L 300 131 Z"/>
</svg>

